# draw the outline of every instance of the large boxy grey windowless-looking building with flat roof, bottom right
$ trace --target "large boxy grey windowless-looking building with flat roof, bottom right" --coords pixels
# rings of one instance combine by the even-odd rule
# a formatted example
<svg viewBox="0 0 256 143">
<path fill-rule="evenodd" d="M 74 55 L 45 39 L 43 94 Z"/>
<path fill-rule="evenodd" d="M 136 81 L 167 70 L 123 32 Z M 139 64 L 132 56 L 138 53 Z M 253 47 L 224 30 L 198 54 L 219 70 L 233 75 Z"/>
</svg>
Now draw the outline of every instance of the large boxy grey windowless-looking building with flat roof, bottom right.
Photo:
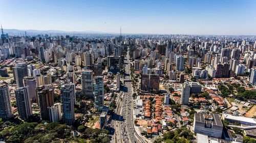
<svg viewBox="0 0 256 143">
<path fill-rule="evenodd" d="M 223 125 L 220 116 L 216 113 L 206 112 L 195 113 L 194 132 L 210 137 L 221 138 Z"/>
</svg>

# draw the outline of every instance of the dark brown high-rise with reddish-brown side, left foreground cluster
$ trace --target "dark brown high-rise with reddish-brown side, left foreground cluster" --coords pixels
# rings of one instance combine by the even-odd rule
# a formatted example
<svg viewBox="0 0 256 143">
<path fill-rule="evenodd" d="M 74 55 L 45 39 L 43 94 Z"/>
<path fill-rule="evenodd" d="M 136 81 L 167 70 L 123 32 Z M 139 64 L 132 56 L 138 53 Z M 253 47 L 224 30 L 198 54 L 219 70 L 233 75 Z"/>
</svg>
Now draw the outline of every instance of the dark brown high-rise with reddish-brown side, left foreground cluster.
<svg viewBox="0 0 256 143">
<path fill-rule="evenodd" d="M 52 85 L 39 86 L 36 89 L 38 104 L 41 112 L 41 119 L 50 121 L 47 108 L 51 107 L 54 103 L 54 89 Z"/>
</svg>

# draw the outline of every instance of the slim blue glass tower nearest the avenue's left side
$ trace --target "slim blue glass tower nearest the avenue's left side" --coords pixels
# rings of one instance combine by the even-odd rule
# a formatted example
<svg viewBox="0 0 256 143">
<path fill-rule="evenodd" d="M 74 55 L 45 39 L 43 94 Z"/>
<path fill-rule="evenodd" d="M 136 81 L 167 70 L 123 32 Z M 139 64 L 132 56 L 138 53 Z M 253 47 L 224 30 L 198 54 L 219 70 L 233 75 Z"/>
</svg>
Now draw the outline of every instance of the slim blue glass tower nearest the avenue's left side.
<svg viewBox="0 0 256 143">
<path fill-rule="evenodd" d="M 104 106 L 103 76 L 94 77 L 94 96 L 95 107 L 98 112 L 101 112 Z"/>
</svg>

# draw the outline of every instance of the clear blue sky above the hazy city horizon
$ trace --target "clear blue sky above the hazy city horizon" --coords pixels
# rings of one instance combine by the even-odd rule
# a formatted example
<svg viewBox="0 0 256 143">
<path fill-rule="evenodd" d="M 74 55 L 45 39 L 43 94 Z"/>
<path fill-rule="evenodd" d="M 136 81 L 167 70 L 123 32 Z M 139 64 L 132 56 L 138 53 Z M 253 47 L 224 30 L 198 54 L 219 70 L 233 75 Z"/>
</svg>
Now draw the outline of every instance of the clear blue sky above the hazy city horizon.
<svg viewBox="0 0 256 143">
<path fill-rule="evenodd" d="M 4 28 L 256 35 L 255 0 L 0 0 Z"/>
</svg>

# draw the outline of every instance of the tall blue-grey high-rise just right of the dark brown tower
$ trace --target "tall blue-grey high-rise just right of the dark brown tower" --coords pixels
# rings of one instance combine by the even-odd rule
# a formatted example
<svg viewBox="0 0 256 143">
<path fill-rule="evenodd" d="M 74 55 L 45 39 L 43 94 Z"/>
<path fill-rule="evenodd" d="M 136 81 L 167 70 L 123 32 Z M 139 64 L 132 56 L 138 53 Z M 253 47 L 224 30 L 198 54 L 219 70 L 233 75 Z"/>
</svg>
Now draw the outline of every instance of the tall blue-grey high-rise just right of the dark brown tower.
<svg viewBox="0 0 256 143">
<path fill-rule="evenodd" d="M 73 83 L 66 83 L 61 86 L 62 120 L 67 125 L 71 125 L 75 121 L 74 93 L 75 89 Z"/>
</svg>

